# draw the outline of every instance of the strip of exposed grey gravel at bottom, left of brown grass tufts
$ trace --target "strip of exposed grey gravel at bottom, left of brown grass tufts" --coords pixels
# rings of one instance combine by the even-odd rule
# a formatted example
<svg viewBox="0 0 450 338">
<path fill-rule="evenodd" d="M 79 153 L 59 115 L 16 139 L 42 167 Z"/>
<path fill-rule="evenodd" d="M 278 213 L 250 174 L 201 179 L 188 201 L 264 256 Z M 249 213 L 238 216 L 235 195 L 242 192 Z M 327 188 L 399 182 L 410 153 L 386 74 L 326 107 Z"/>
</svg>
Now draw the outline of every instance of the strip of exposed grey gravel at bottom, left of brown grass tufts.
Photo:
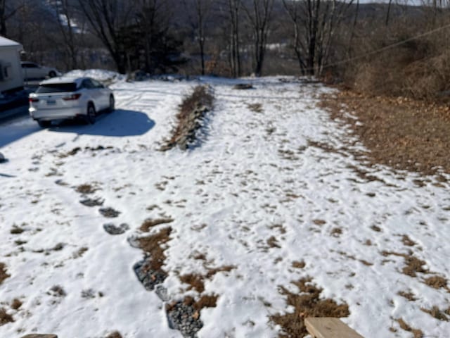
<svg viewBox="0 0 450 338">
<path fill-rule="evenodd" d="M 128 242 L 137 249 L 142 249 L 138 237 L 129 237 Z M 172 330 L 179 330 L 183 337 L 196 338 L 197 332 L 203 327 L 203 323 L 193 304 L 184 301 L 170 301 L 167 296 L 167 289 L 162 285 L 167 273 L 159 268 L 154 270 L 152 257 L 145 253 L 142 261 L 134 264 L 133 270 L 139 282 L 147 291 L 155 291 L 155 294 L 163 301 L 167 316 L 167 323 Z"/>
</svg>

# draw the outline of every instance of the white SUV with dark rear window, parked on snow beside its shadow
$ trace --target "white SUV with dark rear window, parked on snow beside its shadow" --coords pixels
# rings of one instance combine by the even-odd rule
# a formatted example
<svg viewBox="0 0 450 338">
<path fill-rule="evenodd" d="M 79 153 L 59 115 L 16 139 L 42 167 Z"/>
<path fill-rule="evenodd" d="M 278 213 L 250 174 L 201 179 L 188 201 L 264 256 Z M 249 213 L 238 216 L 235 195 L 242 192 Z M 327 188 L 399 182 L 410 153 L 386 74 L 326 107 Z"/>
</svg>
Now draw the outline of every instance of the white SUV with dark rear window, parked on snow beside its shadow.
<svg viewBox="0 0 450 338">
<path fill-rule="evenodd" d="M 41 127 L 52 120 L 82 118 L 94 124 L 99 111 L 113 111 L 111 89 L 90 77 L 53 77 L 30 94 L 30 115 Z"/>
</svg>

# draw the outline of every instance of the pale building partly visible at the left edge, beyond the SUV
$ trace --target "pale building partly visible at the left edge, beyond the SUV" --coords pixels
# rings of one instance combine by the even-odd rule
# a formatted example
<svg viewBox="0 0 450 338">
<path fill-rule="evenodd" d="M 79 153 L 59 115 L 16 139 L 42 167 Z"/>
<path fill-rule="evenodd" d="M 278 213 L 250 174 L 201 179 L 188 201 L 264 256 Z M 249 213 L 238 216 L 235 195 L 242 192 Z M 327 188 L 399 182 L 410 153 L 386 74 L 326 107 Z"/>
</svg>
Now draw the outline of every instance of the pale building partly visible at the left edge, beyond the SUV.
<svg viewBox="0 0 450 338">
<path fill-rule="evenodd" d="M 6 37 L 0 37 L 0 94 L 23 89 L 20 51 L 23 46 Z"/>
</svg>

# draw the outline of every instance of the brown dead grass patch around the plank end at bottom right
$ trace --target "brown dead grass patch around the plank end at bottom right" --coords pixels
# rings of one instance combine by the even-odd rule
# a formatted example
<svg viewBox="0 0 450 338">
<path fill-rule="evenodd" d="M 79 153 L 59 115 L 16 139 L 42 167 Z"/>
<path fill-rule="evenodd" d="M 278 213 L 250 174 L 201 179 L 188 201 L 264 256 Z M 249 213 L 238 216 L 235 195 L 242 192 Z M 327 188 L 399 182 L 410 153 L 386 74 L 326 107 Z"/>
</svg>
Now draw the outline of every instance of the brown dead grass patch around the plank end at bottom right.
<svg viewBox="0 0 450 338">
<path fill-rule="evenodd" d="M 306 336 L 308 332 L 304 325 L 304 318 L 307 317 L 341 318 L 350 314 L 347 304 L 339 305 L 333 299 L 321 299 L 322 289 L 312 284 L 310 277 L 293 284 L 299 288 L 300 293 L 292 293 L 281 287 L 281 294 L 287 296 L 287 303 L 294 307 L 294 312 L 270 317 L 271 321 L 282 327 L 283 334 L 280 337 Z"/>
</svg>

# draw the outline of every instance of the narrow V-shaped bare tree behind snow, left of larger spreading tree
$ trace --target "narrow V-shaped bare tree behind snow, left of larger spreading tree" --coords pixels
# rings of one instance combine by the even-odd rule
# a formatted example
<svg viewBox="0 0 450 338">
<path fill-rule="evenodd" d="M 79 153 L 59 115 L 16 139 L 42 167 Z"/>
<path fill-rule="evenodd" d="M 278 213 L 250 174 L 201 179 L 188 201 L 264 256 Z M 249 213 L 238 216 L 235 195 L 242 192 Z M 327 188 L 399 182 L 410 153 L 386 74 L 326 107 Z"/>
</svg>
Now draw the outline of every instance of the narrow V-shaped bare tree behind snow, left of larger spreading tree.
<svg viewBox="0 0 450 338">
<path fill-rule="evenodd" d="M 264 65 L 274 0 L 252 0 L 250 6 L 242 2 L 242 7 L 252 27 L 255 43 L 255 75 L 260 76 Z"/>
</svg>

